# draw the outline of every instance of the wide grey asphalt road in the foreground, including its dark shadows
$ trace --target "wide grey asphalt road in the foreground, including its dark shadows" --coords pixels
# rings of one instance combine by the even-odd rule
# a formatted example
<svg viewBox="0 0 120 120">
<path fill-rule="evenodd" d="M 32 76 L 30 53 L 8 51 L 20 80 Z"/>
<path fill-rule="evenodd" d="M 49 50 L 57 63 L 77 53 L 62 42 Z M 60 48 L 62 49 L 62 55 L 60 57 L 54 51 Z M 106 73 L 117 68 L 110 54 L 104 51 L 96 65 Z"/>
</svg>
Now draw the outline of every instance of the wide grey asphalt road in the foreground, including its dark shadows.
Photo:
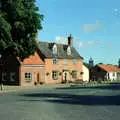
<svg viewBox="0 0 120 120">
<path fill-rule="evenodd" d="M 1 93 L 0 120 L 120 120 L 120 86 Z"/>
</svg>

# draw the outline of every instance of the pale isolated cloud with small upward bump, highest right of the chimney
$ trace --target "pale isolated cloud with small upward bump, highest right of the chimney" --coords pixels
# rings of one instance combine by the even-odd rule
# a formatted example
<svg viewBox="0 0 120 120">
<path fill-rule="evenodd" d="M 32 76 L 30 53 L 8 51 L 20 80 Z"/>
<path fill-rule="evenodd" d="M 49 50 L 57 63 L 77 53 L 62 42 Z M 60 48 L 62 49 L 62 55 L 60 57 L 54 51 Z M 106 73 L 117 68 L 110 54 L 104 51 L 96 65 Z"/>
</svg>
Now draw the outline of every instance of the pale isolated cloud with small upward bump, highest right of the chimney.
<svg viewBox="0 0 120 120">
<path fill-rule="evenodd" d="M 85 32 L 96 31 L 96 30 L 99 30 L 99 29 L 102 29 L 102 28 L 103 28 L 103 26 L 99 23 L 98 20 L 96 20 L 95 24 L 84 24 L 82 26 L 82 30 L 84 30 Z"/>
</svg>

